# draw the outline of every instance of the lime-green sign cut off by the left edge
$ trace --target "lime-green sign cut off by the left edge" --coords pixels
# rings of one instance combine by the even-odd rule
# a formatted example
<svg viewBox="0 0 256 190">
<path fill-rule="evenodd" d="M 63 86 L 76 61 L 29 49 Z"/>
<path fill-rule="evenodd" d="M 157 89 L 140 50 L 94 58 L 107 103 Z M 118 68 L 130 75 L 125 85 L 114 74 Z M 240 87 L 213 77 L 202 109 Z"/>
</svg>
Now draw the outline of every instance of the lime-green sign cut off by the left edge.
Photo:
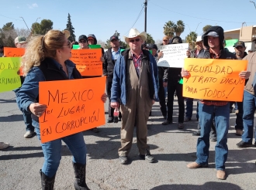
<svg viewBox="0 0 256 190">
<path fill-rule="evenodd" d="M 15 90 L 21 86 L 19 62 L 19 57 L 0 58 L 0 92 Z"/>
</svg>

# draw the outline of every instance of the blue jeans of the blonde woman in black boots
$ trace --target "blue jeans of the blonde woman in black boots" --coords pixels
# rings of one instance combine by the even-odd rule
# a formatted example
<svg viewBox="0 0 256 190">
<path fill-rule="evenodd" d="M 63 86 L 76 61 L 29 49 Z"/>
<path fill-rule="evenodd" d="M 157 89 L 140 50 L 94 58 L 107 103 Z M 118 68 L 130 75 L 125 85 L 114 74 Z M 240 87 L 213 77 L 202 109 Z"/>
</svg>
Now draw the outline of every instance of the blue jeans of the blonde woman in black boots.
<svg viewBox="0 0 256 190">
<path fill-rule="evenodd" d="M 35 127 L 36 135 L 41 140 L 40 137 L 40 128 Z M 73 154 L 72 161 L 74 163 L 79 163 L 85 165 L 86 163 L 86 146 L 84 141 L 83 134 L 77 133 L 72 134 L 67 137 L 62 137 L 60 139 L 49 141 L 47 143 L 41 143 L 43 149 L 43 168 L 42 171 L 48 177 L 53 177 L 56 172 L 57 168 L 60 165 L 61 161 L 61 140 L 67 144 L 67 148 Z"/>
</svg>

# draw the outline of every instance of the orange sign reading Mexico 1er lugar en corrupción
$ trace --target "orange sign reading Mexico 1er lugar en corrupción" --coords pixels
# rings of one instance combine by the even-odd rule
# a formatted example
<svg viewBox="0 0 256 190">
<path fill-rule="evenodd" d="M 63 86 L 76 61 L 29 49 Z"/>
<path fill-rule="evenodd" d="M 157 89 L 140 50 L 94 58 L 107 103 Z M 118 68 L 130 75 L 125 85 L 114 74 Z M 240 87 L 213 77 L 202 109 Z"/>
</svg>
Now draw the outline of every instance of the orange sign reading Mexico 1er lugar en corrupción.
<svg viewBox="0 0 256 190">
<path fill-rule="evenodd" d="M 106 76 L 40 82 L 39 102 L 47 105 L 47 110 L 39 118 L 41 142 L 105 124 L 101 100 L 105 85 Z"/>
</svg>

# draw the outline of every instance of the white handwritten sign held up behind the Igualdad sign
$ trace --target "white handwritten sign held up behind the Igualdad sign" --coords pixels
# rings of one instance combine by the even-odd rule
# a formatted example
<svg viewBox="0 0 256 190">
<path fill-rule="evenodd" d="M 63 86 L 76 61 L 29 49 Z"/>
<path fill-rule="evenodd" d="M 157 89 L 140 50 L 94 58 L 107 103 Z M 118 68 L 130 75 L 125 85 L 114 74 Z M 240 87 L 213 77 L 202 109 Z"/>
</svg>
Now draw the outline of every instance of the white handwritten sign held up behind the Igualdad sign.
<svg viewBox="0 0 256 190">
<path fill-rule="evenodd" d="M 161 46 L 160 51 L 164 56 L 158 60 L 157 66 L 182 68 L 186 52 L 189 50 L 189 43 L 178 43 Z"/>
</svg>

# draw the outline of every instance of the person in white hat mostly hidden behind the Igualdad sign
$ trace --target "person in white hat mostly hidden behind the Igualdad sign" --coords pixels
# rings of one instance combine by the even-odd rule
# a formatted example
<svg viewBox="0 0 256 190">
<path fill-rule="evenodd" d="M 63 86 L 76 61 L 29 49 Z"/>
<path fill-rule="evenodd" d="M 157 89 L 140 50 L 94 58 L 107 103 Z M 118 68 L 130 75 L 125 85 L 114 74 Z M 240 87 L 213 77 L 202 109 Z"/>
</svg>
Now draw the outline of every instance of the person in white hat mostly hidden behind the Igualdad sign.
<svg viewBox="0 0 256 190">
<path fill-rule="evenodd" d="M 197 36 L 196 37 L 196 42 L 195 42 L 195 49 L 193 49 L 191 52 L 189 52 L 188 58 L 195 58 L 199 55 L 199 53 L 203 51 L 203 46 L 202 46 L 202 36 Z M 193 100 L 192 98 L 186 97 L 185 98 L 185 119 L 184 122 L 188 122 L 191 120 L 192 113 L 193 113 Z M 197 103 L 198 107 L 198 103 Z M 198 108 L 196 109 L 198 110 Z M 199 114 L 196 112 L 196 120 L 199 120 Z"/>
</svg>

